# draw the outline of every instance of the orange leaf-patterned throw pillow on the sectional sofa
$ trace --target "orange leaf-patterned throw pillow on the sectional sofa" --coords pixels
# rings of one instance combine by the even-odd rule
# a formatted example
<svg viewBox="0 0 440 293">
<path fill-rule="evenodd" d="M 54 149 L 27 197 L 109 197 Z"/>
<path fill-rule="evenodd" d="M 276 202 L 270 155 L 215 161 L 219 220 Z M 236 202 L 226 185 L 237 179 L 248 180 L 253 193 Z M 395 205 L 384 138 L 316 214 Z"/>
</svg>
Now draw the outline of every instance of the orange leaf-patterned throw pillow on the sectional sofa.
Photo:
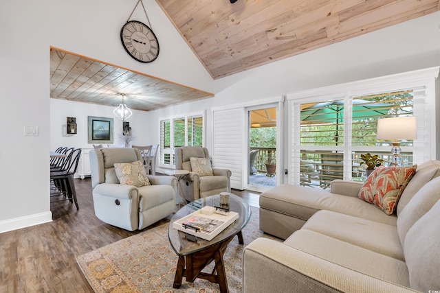
<svg viewBox="0 0 440 293">
<path fill-rule="evenodd" d="M 358 198 L 375 204 L 384 213 L 391 215 L 416 169 L 417 165 L 412 167 L 377 167 L 366 178 Z"/>
</svg>

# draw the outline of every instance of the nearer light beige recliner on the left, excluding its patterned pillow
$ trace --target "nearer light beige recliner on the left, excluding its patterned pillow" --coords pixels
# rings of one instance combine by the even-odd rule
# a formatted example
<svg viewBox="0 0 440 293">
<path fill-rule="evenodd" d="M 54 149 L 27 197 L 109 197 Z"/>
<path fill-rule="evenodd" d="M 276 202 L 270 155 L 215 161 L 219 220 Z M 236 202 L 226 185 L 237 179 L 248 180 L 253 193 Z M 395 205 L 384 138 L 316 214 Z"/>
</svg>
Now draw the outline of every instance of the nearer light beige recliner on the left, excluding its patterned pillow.
<svg viewBox="0 0 440 293">
<path fill-rule="evenodd" d="M 173 213 L 176 205 L 177 179 L 151 176 L 151 185 L 135 187 L 119 184 L 114 163 L 142 161 L 133 148 L 91 150 L 91 185 L 96 216 L 113 226 L 129 231 L 143 229 Z"/>
</svg>

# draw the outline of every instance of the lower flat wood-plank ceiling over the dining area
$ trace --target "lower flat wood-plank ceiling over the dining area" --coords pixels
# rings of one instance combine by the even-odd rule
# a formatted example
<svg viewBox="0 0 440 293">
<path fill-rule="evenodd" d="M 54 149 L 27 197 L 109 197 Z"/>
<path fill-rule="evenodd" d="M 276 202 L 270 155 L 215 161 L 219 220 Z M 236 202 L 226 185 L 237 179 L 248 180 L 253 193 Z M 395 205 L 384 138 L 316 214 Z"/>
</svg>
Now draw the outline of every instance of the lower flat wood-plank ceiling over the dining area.
<svg viewBox="0 0 440 293">
<path fill-rule="evenodd" d="M 106 106 L 155 110 L 213 97 L 212 93 L 123 69 L 61 49 L 50 51 L 50 97 Z"/>
</svg>

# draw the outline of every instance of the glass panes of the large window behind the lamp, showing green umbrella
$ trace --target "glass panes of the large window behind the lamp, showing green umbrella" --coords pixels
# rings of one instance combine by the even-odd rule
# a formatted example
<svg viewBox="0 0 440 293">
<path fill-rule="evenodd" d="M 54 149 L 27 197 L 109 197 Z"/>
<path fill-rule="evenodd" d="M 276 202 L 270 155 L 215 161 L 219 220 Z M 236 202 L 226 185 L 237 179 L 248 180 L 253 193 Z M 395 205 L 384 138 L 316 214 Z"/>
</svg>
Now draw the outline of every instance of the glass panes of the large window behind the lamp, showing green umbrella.
<svg viewBox="0 0 440 293">
<path fill-rule="evenodd" d="M 377 119 L 412 116 L 413 98 L 412 91 L 408 90 L 349 97 L 347 101 L 333 99 L 307 103 L 300 107 L 300 145 L 303 146 L 300 149 L 300 184 L 327 188 L 331 180 L 344 179 L 344 152 L 349 154 L 351 180 L 365 179 L 360 154 L 374 152 L 385 161 L 391 160 L 388 150 L 375 148 L 388 145 L 376 139 Z M 345 119 L 351 124 L 344 123 Z M 345 137 L 344 129 L 349 127 L 349 137 Z M 314 146 L 330 149 L 320 150 Z M 355 150 L 355 146 L 360 148 Z M 403 141 L 401 146 L 412 147 L 412 141 Z M 401 154 L 401 158 L 404 165 L 412 165 L 412 148 Z"/>
</svg>

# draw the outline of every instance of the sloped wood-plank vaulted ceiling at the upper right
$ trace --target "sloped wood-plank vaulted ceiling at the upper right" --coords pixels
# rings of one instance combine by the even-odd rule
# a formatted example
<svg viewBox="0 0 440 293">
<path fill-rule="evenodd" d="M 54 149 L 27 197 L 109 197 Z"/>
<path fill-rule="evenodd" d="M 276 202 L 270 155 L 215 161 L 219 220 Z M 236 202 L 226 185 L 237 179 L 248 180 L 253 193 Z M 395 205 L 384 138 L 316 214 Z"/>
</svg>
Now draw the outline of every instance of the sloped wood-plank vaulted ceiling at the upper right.
<svg viewBox="0 0 440 293">
<path fill-rule="evenodd" d="M 156 1 L 214 79 L 440 10 L 439 0 Z"/>
</svg>

